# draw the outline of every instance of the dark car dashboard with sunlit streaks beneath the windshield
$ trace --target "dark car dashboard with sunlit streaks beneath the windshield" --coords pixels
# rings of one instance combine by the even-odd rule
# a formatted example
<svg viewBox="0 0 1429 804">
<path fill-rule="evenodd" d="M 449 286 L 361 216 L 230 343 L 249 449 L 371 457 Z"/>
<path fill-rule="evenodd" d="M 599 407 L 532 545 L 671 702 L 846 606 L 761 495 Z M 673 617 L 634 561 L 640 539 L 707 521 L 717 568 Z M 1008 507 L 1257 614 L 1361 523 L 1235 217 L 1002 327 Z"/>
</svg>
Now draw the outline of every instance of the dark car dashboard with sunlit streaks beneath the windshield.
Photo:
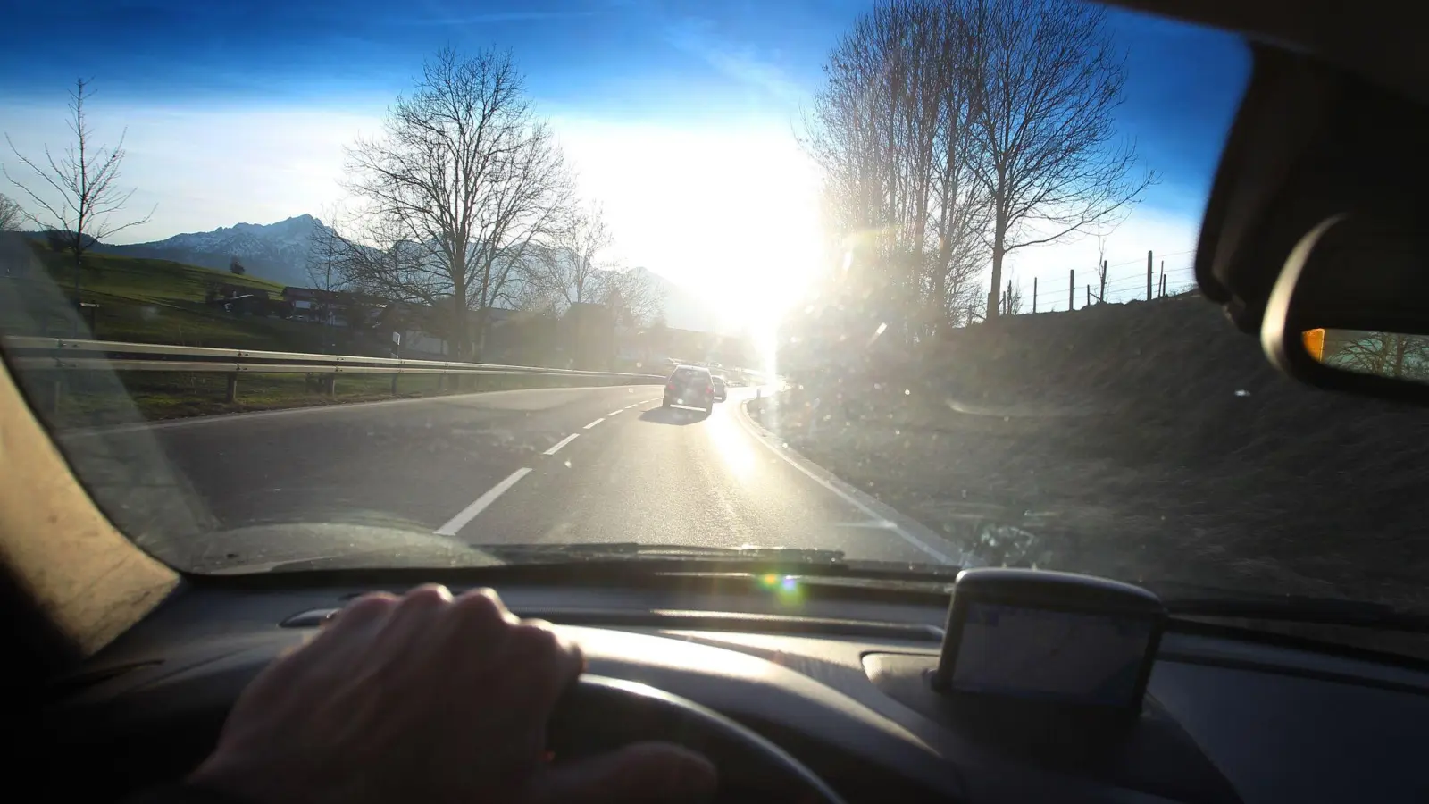
<svg viewBox="0 0 1429 804">
<path fill-rule="evenodd" d="M 1420 667 L 1172 618 L 1139 717 L 1099 731 L 1030 711 L 982 717 L 933 692 L 946 597 L 792 599 L 700 578 L 490 585 L 579 641 L 590 672 L 722 712 L 850 803 L 1429 801 Z M 374 588 L 404 585 L 191 579 L 51 691 L 47 755 L 93 768 L 51 773 L 51 798 L 181 775 L 264 664 Z"/>
</svg>

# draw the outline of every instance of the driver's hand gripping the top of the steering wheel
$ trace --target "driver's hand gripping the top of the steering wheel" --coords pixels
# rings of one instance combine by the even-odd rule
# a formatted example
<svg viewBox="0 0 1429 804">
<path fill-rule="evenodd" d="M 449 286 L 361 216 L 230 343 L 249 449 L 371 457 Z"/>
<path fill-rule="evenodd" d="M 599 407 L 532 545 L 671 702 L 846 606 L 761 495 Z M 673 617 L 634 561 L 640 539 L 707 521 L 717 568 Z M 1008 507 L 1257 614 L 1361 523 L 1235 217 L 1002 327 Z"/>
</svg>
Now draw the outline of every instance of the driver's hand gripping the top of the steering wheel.
<svg viewBox="0 0 1429 804">
<path fill-rule="evenodd" d="M 707 798 L 714 768 L 629 745 L 553 765 L 546 722 L 580 648 L 490 589 L 353 601 L 243 691 L 190 784 L 252 804 L 603 804 Z"/>
</svg>

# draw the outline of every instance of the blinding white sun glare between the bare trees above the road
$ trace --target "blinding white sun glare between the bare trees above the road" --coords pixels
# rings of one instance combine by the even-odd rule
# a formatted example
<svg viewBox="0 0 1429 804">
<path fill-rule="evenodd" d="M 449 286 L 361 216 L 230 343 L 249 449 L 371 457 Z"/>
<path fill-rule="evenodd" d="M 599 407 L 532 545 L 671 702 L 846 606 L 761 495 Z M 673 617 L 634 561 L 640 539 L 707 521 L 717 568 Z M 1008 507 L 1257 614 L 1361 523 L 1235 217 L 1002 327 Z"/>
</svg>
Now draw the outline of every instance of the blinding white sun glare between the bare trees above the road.
<svg viewBox="0 0 1429 804">
<path fill-rule="evenodd" d="M 720 329 L 772 336 L 823 263 L 819 173 L 785 122 L 557 130 L 622 259 L 702 296 Z"/>
</svg>

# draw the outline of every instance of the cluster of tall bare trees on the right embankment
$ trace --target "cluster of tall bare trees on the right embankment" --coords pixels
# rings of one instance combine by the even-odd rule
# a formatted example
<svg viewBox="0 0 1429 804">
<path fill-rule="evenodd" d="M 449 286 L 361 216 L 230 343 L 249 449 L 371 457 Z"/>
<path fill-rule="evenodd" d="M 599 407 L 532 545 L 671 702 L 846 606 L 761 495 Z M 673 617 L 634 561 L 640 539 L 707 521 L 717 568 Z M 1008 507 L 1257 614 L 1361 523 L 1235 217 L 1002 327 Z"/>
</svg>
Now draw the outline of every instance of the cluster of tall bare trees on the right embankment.
<svg viewBox="0 0 1429 804">
<path fill-rule="evenodd" d="M 905 340 L 1015 313 L 1009 255 L 1105 232 L 1155 182 L 1117 142 L 1125 80 L 1106 11 L 1077 0 L 885 0 L 860 17 L 806 120 L 843 255 L 825 309 Z"/>
</svg>

